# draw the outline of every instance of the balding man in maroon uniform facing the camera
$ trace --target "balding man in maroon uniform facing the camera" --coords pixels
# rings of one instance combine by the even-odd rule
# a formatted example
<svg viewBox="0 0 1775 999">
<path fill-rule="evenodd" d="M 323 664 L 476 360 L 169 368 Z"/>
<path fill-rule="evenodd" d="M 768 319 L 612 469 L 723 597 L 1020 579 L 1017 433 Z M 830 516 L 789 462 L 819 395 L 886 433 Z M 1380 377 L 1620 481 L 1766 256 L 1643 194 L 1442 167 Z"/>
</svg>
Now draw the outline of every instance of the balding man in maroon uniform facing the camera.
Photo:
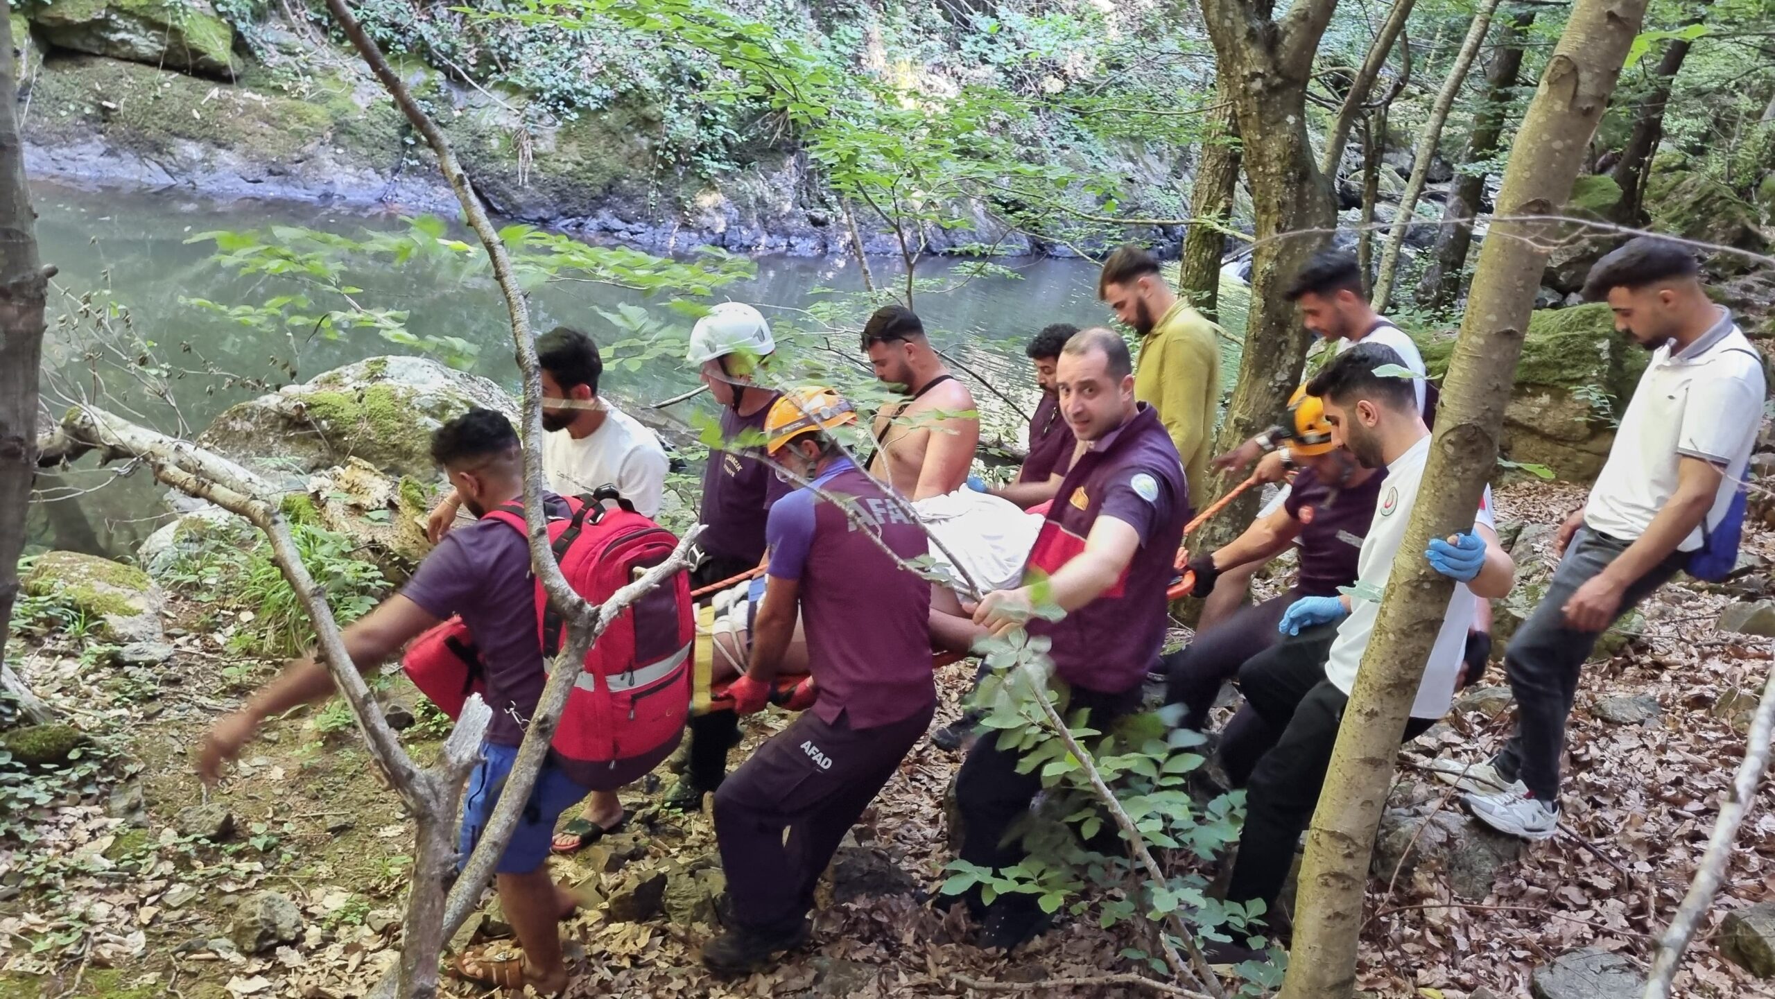
<svg viewBox="0 0 1775 999">
<path fill-rule="evenodd" d="M 1026 584 L 980 600 L 974 621 L 994 633 L 1026 626 L 1049 637 L 1067 710 L 1086 710 L 1086 726 L 1108 731 L 1140 708 L 1147 667 L 1164 642 L 1164 589 L 1189 520 L 1189 486 L 1170 433 L 1152 406 L 1134 401 L 1134 364 L 1109 330 L 1085 330 L 1060 353 L 1060 412 L 1086 444 L 1060 484 L 1030 552 Z M 1033 617 L 1031 593 L 1045 577 L 1044 602 L 1058 621 Z M 1019 774 L 1021 754 L 982 735 L 957 777 L 964 820 L 960 857 L 982 868 L 1008 868 L 1024 857 L 1006 838 L 1042 790 L 1038 774 Z M 967 898 L 985 928 L 980 944 L 1012 949 L 1045 928 L 1030 894 L 1001 894 L 983 905 Z"/>
</svg>

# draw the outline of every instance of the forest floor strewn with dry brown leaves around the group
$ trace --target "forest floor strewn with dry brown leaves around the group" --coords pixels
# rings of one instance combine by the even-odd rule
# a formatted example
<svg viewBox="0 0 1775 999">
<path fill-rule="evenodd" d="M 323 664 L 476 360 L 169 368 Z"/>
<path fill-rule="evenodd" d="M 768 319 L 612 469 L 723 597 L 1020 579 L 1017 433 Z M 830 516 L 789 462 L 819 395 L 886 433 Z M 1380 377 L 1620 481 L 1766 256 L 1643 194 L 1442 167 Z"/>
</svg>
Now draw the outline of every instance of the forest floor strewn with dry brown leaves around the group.
<svg viewBox="0 0 1775 999">
<path fill-rule="evenodd" d="M 1574 502 L 1564 486 L 1498 493 L 1500 516 L 1526 523 L 1551 523 Z M 1775 536 L 1757 534 L 1748 548 L 1771 557 Z M 1459 999 L 1479 988 L 1528 995 L 1537 965 L 1578 948 L 1649 964 L 1653 937 L 1686 891 L 1743 756 L 1734 722 L 1754 706 L 1770 669 L 1766 644 L 1715 632 L 1729 602 L 1697 586 L 1665 587 L 1621 651 L 1587 671 L 1571 722 L 1567 830 L 1525 848 L 1489 894 L 1457 898 L 1434 864 L 1370 882 L 1363 990 L 1388 999 Z M 266 724 L 243 765 L 206 797 L 192 768 L 204 728 L 277 664 L 231 655 L 229 621 L 208 605 L 174 596 L 172 610 L 176 655 L 153 669 L 114 665 L 83 635 L 27 639 L 20 673 L 73 715 L 89 745 L 36 784 L 0 788 L 0 999 L 362 995 L 396 956 L 412 823 L 380 784 L 357 731 L 327 710 Z M 937 726 L 955 717 L 967 680 L 966 667 L 941 678 Z M 1502 683 L 1500 667 L 1489 683 Z M 389 694 L 399 697 L 403 685 Z M 1608 697 L 1642 696 L 1656 701 L 1645 724 L 1613 724 L 1596 710 Z M 1503 738 L 1507 717 L 1507 710 L 1452 715 L 1408 747 L 1400 781 L 1424 784 L 1411 761 L 1438 747 L 1480 759 Z M 747 745 L 785 722 L 781 713 L 754 719 Z M 403 738 L 424 759 L 438 733 L 415 726 Z M 643 923 L 593 912 L 566 926 L 579 976 L 570 995 L 964 995 L 962 976 L 1033 983 L 1134 971 L 1118 956 L 1138 942 L 1125 928 L 1069 919 L 1006 958 L 974 948 L 960 912 L 932 907 L 953 857 L 943 798 L 958 763 L 928 742 L 911 752 L 857 825 L 856 845 L 841 852 L 836 885 L 822 891 L 815 942 L 779 969 L 712 979 L 698 962 L 712 928 L 698 912 Z M 650 777 L 625 795 L 627 804 L 648 813 L 657 786 Z M 28 793 L 44 800 L 21 797 Z M 1440 786 L 1418 797 L 1459 809 Z M 234 816 L 234 832 L 222 841 L 178 829 L 181 811 L 206 800 Z M 1764 784 L 1725 889 L 1690 948 L 1679 995 L 1775 995 L 1727 964 L 1711 939 L 1729 909 L 1775 898 L 1771 804 L 1775 790 Z M 552 861 L 554 873 L 614 889 L 637 868 L 669 861 L 696 868 L 692 861 L 714 855 L 706 816 L 651 818 L 611 845 L 635 855 L 628 869 L 593 869 L 616 866 L 611 848 L 595 848 Z M 243 955 L 227 942 L 236 909 L 264 891 L 295 903 L 300 933 Z"/>
</svg>

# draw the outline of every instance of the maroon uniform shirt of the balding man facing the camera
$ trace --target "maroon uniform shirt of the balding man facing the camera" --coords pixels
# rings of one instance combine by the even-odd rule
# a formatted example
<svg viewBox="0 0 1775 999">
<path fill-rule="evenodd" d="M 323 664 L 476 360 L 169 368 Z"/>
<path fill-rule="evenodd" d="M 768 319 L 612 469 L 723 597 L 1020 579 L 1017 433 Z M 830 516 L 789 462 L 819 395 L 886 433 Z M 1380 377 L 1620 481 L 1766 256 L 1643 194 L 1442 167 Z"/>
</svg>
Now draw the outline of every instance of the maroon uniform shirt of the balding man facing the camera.
<svg viewBox="0 0 1775 999">
<path fill-rule="evenodd" d="M 1074 687 L 1118 694 L 1140 685 L 1164 644 L 1164 589 L 1189 522 L 1189 484 L 1172 435 L 1140 403 L 1134 417 L 1079 456 L 1047 507 L 1024 575 L 1053 575 L 1085 550 L 1099 515 L 1134 527 L 1140 548 L 1122 578 L 1060 621 L 1031 621 L 1049 635 L 1054 671 Z M 1026 580 L 1028 582 L 1028 580 Z"/>
</svg>

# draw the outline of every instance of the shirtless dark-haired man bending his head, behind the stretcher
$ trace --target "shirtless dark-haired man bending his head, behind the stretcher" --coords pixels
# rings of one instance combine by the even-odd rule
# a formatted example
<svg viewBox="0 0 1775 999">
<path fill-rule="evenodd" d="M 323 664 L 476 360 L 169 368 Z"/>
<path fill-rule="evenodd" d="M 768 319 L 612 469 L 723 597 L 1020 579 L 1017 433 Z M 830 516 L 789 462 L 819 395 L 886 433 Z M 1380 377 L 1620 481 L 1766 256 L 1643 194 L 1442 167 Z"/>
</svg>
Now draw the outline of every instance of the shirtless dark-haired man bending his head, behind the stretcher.
<svg viewBox="0 0 1775 999">
<path fill-rule="evenodd" d="M 912 500 L 962 488 L 980 445 L 980 413 L 925 339 L 925 323 L 905 305 L 877 309 L 863 326 L 863 351 L 875 378 L 911 396 L 875 415 L 870 474 Z"/>
</svg>

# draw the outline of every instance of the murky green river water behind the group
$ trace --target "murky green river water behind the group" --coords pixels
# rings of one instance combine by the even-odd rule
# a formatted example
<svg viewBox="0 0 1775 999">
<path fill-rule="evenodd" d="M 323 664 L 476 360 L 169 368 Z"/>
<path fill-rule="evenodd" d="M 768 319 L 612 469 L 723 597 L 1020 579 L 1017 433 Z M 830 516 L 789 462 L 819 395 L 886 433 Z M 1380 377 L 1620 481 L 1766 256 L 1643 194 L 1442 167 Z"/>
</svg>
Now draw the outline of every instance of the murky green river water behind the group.
<svg viewBox="0 0 1775 999">
<path fill-rule="evenodd" d="M 273 295 L 293 291 L 279 279 L 241 277 L 213 261 L 215 245 L 192 243 L 208 231 L 257 231 L 266 225 L 302 225 L 327 232 L 360 234 L 366 229 L 405 229 L 394 215 L 360 215 L 312 204 L 213 202 L 178 192 L 128 193 L 91 192 L 51 185 L 32 188 L 37 209 L 37 243 L 44 263 L 60 268 L 51 287 L 50 335 L 44 344 L 43 390 L 50 412 L 75 399 L 96 399 L 131 419 L 167 433 L 195 435 L 225 406 L 248 399 L 263 389 L 291 380 L 305 382 L 323 371 L 383 353 L 412 353 L 382 339 L 375 330 L 355 330 L 335 341 L 272 335 L 250 330 L 233 319 L 192 305 L 202 298 L 222 305 L 259 305 Z M 1024 408 L 1035 403 L 1028 360 L 1022 346 L 1047 323 L 1099 325 L 1109 319 L 1097 302 L 1097 268 L 1083 261 L 1012 259 L 1005 261 L 1017 279 L 974 279 L 941 295 L 921 295 L 918 311 L 932 341 L 960 360 L 973 382 L 982 415 L 989 428 L 1008 440 L 1021 440 L 1017 417 L 982 382 L 1017 399 Z M 756 277 L 717 291 L 717 298 L 753 302 L 767 314 L 793 316 L 809 303 L 816 287 L 854 291 L 861 287 L 850 259 L 760 257 Z M 898 261 L 872 259 L 877 280 L 891 280 Z M 919 268 L 919 277 L 944 273 L 941 261 Z M 351 282 L 366 289 L 364 298 L 410 312 L 408 328 L 431 335 L 453 335 L 479 348 L 472 371 L 492 378 L 508 390 L 517 389 L 517 367 L 509 350 L 509 326 L 501 300 L 485 280 L 467 279 L 462 268 L 408 264 L 353 273 Z M 91 318 L 75 328 L 59 326 L 59 316 L 76 318 L 82 298 L 89 307 L 122 305 L 137 335 L 153 341 L 154 353 L 172 367 L 224 371 L 192 373 L 167 382 L 170 401 L 156 399 L 142 382 L 126 373 L 128 335 L 119 334 L 121 318 L 110 326 Z M 660 311 L 664 303 L 639 293 L 602 284 L 550 284 L 534 293 L 532 325 L 548 328 L 573 325 L 600 342 L 621 339 L 598 314 L 619 303 Z M 1230 303 L 1228 328 L 1242 330 L 1244 316 Z M 861 325 L 861 316 L 857 323 Z M 114 350 L 119 348 L 119 350 Z M 1237 371 L 1235 351 L 1225 358 L 1230 389 Z M 660 399 L 696 385 L 696 374 L 676 358 L 655 358 L 630 371 L 623 357 L 605 351 L 605 390 L 619 399 Z M 289 367 L 295 367 L 295 378 Z M 708 408 L 705 397 L 678 406 Z M 687 415 L 687 413 L 685 413 Z M 989 433 L 990 435 L 990 433 Z M 115 468 L 96 470 L 92 458 L 78 470 L 46 476 L 28 525 L 28 541 L 41 547 L 89 550 L 112 557 L 135 550 L 142 538 L 167 520 L 167 507 L 146 470 L 119 476 Z"/>
</svg>

